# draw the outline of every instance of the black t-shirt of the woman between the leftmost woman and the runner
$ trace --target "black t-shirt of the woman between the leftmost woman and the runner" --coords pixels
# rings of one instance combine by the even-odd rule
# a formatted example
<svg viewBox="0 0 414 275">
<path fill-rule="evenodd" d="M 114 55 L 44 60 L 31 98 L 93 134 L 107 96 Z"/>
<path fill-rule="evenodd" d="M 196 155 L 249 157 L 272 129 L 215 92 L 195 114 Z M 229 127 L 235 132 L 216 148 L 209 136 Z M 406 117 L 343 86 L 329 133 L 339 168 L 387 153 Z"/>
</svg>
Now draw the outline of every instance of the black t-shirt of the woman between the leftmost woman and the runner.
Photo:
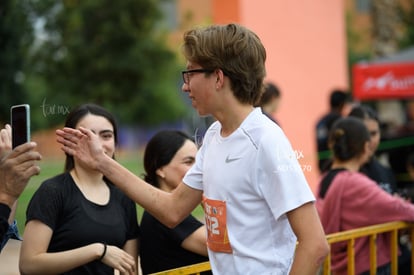
<svg viewBox="0 0 414 275">
<path fill-rule="evenodd" d="M 181 247 L 181 243 L 201 226 L 203 224 L 190 215 L 171 229 L 144 211 L 140 224 L 140 260 L 143 274 L 208 261 L 208 257 Z"/>
</svg>

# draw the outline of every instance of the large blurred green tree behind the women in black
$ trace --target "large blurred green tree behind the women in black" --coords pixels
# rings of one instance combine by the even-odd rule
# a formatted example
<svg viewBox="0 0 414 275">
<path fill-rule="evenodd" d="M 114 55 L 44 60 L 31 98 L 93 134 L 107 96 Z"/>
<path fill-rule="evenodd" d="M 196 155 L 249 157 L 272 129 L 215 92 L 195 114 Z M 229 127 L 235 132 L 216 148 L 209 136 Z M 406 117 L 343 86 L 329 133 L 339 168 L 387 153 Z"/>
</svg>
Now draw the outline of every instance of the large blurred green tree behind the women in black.
<svg viewBox="0 0 414 275">
<path fill-rule="evenodd" d="M 29 1 L 38 37 L 29 56 L 28 85 L 43 123 L 75 105 L 95 102 L 124 123 L 152 125 L 181 118 L 177 59 L 168 49 L 159 1 Z M 40 34 L 40 35 L 39 35 Z M 46 111 L 46 113 L 45 113 Z M 48 115 L 49 114 L 49 115 Z"/>
</svg>

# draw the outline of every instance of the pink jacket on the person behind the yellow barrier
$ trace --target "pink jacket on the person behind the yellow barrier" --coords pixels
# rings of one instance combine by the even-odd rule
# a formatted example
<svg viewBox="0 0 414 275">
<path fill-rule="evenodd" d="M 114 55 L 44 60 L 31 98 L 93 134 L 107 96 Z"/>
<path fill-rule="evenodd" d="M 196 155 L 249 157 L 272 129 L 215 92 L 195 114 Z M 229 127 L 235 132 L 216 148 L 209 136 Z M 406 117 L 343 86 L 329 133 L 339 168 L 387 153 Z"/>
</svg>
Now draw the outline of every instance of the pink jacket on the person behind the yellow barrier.
<svg viewBox="0 0 414 275">
<path fill-rule="evenodd" d="M 333 179 L 316 208 L 326 234 L 391 221 L 414 221 L 414 205 L 382 190 L 367 176 L 341 171 Z M 346 243 L 332 246 L 334 274 L 347 274 Z M 390 234 L 377 238 L 378 266 L 390 262 Z M 356 274 L 369 270 L 368 238 L 355 241 Z"/>
</svg>

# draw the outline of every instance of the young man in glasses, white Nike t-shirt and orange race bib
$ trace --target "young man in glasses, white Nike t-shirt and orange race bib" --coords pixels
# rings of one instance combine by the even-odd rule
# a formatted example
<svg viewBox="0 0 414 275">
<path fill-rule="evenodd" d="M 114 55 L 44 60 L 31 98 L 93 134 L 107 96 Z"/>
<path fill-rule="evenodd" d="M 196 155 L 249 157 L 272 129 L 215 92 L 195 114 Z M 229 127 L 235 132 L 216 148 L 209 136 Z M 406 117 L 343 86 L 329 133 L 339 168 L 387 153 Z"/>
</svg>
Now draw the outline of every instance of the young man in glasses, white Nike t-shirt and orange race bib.
<svg viewBox="0 0 414 275">
<path fill-rule="evenodd" d="M 329 251 L 314 196 L 282 130 L 259 108 L 266 51 L 237 24 L 184 34 L 183 92 L 217 121 L 174 192 L 145 183 L 105 156 L 87 129 L 58 130 L 82 159 L 167 226 L 202 201 L 214 274 L 315 274 Z"/>
</svg>

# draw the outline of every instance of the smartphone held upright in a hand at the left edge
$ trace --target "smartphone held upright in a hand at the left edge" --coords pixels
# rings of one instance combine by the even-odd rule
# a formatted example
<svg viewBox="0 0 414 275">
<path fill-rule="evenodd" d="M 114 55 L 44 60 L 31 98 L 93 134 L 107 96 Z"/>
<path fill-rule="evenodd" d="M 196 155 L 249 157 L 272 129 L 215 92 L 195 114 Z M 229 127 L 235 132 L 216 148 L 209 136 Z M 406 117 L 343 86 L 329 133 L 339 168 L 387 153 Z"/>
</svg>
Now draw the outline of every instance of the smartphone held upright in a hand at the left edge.
<svg viewBox="0 0 414 275">
<path fill-rule="evenodd" d="M 14 105 L 10 108 L 13 149 L 30 141 L 30 106 Z"/>
</svg>

